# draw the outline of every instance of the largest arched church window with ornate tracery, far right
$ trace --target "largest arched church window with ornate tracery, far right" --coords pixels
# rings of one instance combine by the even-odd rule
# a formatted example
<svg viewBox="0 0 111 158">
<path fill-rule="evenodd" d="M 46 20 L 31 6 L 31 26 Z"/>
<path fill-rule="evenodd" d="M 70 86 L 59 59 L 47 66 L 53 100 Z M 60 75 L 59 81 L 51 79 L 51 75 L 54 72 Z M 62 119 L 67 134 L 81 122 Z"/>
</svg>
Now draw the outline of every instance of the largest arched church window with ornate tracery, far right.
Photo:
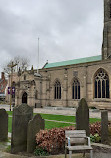
<svg viewBox="0 0 111 158">
<path fill-rule="evenodd" d="M 95 98 L 109 98 L 109 77 L 103 69 L 99 69 L 94 78 Z"/>
</svg>

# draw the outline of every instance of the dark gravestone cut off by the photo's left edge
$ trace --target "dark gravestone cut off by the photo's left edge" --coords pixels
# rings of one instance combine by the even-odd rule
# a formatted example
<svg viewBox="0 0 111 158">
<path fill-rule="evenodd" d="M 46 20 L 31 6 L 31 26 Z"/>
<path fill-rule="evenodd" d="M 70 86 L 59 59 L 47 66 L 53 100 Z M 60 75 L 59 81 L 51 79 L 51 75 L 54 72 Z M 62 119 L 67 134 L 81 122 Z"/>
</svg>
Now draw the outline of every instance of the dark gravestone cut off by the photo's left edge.
<svg viewBox="0 0 111 158">
<path fill-rule="evenodd" d="M 0 109 L 0 141 L 8 139 L 8 114 L 5 109 Z"/>
</svg>

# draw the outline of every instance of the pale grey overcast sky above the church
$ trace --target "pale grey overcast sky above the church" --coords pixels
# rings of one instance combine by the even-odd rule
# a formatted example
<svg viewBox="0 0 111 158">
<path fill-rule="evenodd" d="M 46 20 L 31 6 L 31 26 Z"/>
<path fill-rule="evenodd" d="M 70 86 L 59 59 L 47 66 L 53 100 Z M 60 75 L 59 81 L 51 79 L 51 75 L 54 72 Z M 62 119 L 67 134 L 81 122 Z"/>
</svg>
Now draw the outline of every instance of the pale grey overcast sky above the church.
<svg viewBox="0 0 111 158">
<path fill-rule="evenodd" d="M 0 71 L 14 56 L 37 67 L 101 54 L 103 0 L 0 0 Z"/>
</svg>

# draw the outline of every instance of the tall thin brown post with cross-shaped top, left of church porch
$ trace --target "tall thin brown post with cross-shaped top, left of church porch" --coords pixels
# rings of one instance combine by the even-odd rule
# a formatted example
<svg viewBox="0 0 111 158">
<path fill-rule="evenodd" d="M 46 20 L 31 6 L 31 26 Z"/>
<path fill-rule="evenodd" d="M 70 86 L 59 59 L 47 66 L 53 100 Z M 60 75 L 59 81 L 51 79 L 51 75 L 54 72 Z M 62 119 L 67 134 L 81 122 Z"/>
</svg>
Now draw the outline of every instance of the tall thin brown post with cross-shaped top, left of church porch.
<svg viewBox="0 0 111 158">
<path fill-rule="evenodd" d="M 17 64 L 14 64 L 13 62 L 11 63 L 11 65 L 8 65 L 8 67 L 11 68 L 11 74 L 10 74 L 10 111 L 11 111 L 11 105 L 12 105 L 12 79 L 13 79 L 13 68 L 16 66 Z"/>
</svg>

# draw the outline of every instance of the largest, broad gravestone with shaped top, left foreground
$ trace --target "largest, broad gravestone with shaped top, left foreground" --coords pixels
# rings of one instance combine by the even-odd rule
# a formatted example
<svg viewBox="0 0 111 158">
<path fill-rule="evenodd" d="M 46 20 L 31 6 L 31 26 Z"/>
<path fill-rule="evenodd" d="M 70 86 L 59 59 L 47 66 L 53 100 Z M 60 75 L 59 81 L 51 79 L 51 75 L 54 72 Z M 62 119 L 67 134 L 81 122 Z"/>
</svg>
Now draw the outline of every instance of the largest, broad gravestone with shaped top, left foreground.
<svg viewBox="0 0 111 158">
<path fill-rule="evenodd" d="M 27 104 L 13 109 L 11 153 L 27 150 L 27 128 L 32 117 L 33 109 Z"/>
</svg>

